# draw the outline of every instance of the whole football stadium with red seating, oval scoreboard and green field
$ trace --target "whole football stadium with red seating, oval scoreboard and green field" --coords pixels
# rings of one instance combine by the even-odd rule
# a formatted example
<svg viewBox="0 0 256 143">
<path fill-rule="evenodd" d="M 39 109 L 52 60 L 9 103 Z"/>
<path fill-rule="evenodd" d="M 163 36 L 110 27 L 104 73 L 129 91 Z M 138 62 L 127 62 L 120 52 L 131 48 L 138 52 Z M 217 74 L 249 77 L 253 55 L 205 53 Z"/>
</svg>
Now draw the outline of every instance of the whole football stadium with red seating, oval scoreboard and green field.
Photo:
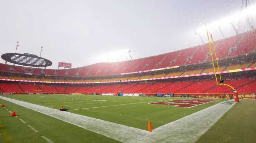
<svg viewBox="0 0 256 143">
<path fill-rule="evenodd" d="M 0 142 L 255 143 L 256 31 L 246 25 L 229 37 L 210 25 L 195 31 L 207 33 L 201 45 L 75 68 L 3 53 Z M 223 38 L 213 40 L 216 29 Z"/>
</svg>

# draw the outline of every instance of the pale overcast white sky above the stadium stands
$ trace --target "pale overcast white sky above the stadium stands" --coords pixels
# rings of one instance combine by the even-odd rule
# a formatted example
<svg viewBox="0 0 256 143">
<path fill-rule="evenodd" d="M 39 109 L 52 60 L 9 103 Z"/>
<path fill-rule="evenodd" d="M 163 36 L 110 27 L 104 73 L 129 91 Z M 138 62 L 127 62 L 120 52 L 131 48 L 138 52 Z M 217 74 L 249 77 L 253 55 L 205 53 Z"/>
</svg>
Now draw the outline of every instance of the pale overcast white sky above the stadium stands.
<svg viewBox="0 0 256 143">
<path fill-rule="evenodd" d="M 15 53 L 17 41 L 17 53 L 39 56 L 43 46 L 42 57 L 53 62 L 47 68 L 57 69 L 58 62 L 72 67 L 107 62 L 99 55 L 109 51 L 129 49 L 134 59 L 172 52 L 201 45 L 194 30 L 239 12 L 241 4 L 241 0 L 2 0 L 0 55 Z M 235 25 L 246 30 L 245 23 Z M 231 25 L 222 30 L 226 37 L 235 35 Z M 222 38 L 218 30 L 212 34 L 214 40 Z M 202 37 L 207 43 L 206 34 Z"/>
</svg>

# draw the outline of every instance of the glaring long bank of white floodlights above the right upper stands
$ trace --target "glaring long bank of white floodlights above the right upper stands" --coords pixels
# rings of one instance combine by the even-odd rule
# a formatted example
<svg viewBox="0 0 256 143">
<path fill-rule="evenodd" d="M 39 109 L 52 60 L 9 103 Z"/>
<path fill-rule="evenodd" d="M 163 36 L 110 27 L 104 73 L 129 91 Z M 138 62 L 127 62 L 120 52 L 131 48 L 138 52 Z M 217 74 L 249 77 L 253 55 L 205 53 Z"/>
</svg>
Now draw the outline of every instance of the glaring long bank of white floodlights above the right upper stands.
<svg viewBox="0 0 256 143">
<path fill-rule="evenodd" d="M 247 15 L 253 15 L 253 14 L 256 14 L 256 5 L 253 5 L 241 12 L 235 13 L 235 14 L 231 15 L 230 17 L 226 17 L 219 21 L 214 21 L 211 24 L 207 24 L 207 27 L 205 27 L 203 25 L 199 29 L 195 30 L 195 35 L 204 33 L 206 30 L 209 31 L 209 30 L 216 29 L 216 28 L 219 28 L 219 27 L 227 25 L 227 24 L 232 24 L 232 22 L 234 22 L 236 20 L 247 17 Z M 234 26 L 233 26 L 233 28 L 234 28 Z"/>
</svg>

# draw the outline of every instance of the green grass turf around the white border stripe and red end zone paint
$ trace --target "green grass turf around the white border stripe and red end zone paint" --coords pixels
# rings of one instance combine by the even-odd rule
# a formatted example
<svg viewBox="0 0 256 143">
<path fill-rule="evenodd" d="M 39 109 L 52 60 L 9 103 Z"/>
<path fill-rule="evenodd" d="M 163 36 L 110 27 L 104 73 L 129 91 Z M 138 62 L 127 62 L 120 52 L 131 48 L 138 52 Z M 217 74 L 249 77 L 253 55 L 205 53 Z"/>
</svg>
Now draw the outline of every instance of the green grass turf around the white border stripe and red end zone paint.
<svg viewBox="0 0 256 143">
<path fill-rule="evenodd" d="M 152 122 L 152 129 L 158 128 L 159 126 L 165 125 L 167 123 L 173 122 L 180 118 L 183 118 L 192 113 L 198 112 L 202 109 L 211 107 L 222 101 L 227 101 L 229 99 L 219 99 L 217 101 L 201 104 L 192 108 L 181 108 L 166 105 L 153 105 L 148 104 L 152 102 L 163 102 L 176 99 L 186 99 L 186 98 L 156 98 L 156 97 L 117 97 L 117 96 L 88 96 L 88 95 L 1 95 L 2 97 L 7 97 L 11 99 L 16 99 L 20 101 L 25 101 L 40 106 L 45 106 L 54 109 L 60 109 L 61 106 L 69 109 L 67 112 L 84 115 L 87 117 L 92 117 L 96 119 L 101 119 L 104 121 L 109 121 L 117 124 L 122 124 L 126 126 L 131 126 L 134 128 L 147 130 L 147 121 Z M 188 98 L 189 99 L 189 98 Z M 239 104 L 232 107 L 216 124 L 210 128 L 205 135 L 203 135 L 198 142 L 204 142 L 207 139 L 211 139 L 208 142 L 214 142 L 214 137 L 218 136 L 218 141 L 225 142 L 225 136 L 221 138 L 221 132 L 227 132 L 226 130 L 221 130 L 221 126 L 224 125 L 232 126 L 229 121 L 235 120 L 234 124 L 238 124 L 239 118 L 245 118 L 244 115 L 236 115 L 237 109 L 239 112 L 243 113 L 247 111 L 245 115 L 250 122 L 255 118 L 255 104 L 250 103 L 254 100 L 242 100 Z M 58 120 L 56 118 L 50 117 L 48 115 L 30 110 L 28 108 L 19 106 L 17 104 L 11 103 L 0 99 L 0 104 L 4 103 L 8 110 L 16 111 L 20 119 L 26 123 L 22 123 L 20 119 L 15 117 L 10 117 L 9 111 L 4 108 L 0 108 L 0 142 L 34 142 L 34 143 L 47 143 L 42 136 L 47 137 L 54 143 L 58 142 L 119 142 L 113 140 L 109 137 L 97 134 L 76 125 Z M 235 111 L 233 111 L 237 108 Z M 78 109 L 78 110 L 77 110 Z M 247 114 L 250 113 L 250 114 Z M 227 115 L 228 114 L 228 115 Z M 227 116 L 227 117 L 226 117 Z M 222 121 L 223 120 L 223 121 Z M 242 119 L 243 120 L 243 119 Z M 221 121 L 221 123 L 219 123 Z M 233 121 L 232 121 L 233 122 Z M 29 128 L 28 125 L 33 126 L 38 132 L 34 132 Z M 246 128 L 247 123 L 243 122 L 244 134 L 247 133 Z M 218 127 L 220 126 L 220 127 Z M 250 131 L 255 128 L 255 125 L 250 123 Z M 242 127 L 241 127 L 242 128 Z M 241 136 L 243 133 L 238 133 L 233 130 L 237 128 L 228 129 L 232 130 L 232 135 Z M 255 131 L 255 130 L 254 130 Z M 8 132 L 8 133 L 6 133 Z M 218 134 L 219 133 L 219 134 Z M 255 141 L 251 135 L 255 136 L 255 133 L 247 134 L 247 138 Z M 224 137 L 224 138 L 223 138 Z M 213 138 L 213 139 L 212 139 Z M 229 139 L 229 138 L 228 138 Z M 12 140 L 12 141 L 11 141 Z M 217 140 L 216 140 L 217 141 Z M 232 141 L 229 139 L 229 141 Z"/>
</svg>

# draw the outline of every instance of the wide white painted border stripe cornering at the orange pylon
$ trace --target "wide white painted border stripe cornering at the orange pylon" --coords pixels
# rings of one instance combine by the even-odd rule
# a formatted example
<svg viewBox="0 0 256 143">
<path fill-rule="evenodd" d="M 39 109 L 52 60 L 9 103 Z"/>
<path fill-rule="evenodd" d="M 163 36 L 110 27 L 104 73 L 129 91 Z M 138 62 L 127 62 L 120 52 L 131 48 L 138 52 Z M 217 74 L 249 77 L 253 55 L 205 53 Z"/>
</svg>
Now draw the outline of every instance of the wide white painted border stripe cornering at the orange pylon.
<svg viewBox="0 0 256 143">
<path fill-rule="evenodd" d="M 232 105 L 218 103 L 174 122 L 160 126 L 150 133 L 146 130 L 86 117 L 71 112 L 55 113 L 55 111 L 59 110 L 6 97 L 0 96 L 0 98 L 125 143 L 193 143 L 235 104 L 235 102 Z M 234 101 L 234 99 L 231 101 Z M 147 124 L 147 122 L 145 124 Z"/>
</svg>

